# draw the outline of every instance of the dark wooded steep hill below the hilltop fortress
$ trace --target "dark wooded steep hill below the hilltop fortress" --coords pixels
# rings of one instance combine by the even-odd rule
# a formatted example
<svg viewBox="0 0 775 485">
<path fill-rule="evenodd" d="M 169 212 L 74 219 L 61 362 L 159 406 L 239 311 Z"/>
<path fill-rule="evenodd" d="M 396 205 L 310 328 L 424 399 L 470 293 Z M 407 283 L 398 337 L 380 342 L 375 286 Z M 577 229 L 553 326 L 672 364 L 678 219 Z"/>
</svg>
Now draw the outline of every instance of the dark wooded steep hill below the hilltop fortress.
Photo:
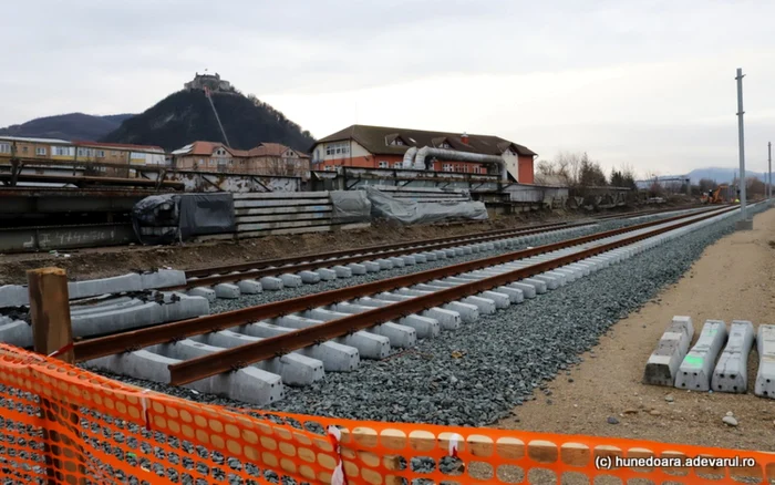
<svg viewBox="0 0 775 485">
<path fill-rule="evenodd" d="M 308 152 L 314 138 L 279 111 L 255 96 L 213 92 L 213 103 L 232 148 L 262 142 Z M 157 145 L 170 152 L 195 141 L 223 142 L 213 109 L 199 90 L 178 91 L 103 137 L 103 142 Z"/>
</svg>

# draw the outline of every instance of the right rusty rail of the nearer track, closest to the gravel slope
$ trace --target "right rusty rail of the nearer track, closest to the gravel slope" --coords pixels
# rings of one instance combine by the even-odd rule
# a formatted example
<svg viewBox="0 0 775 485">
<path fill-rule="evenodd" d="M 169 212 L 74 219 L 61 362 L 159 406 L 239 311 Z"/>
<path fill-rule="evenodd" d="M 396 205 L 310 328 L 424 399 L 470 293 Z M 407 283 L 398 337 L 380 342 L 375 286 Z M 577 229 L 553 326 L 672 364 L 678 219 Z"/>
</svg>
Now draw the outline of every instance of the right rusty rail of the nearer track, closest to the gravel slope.
<svg viewBox="0 0 775 485">
<path fill-rule="evenodd" d="M 728 209 L 732 210 L 732 209 Z M 660 234 L 674 230 L 698 221 L 715 217 L 723 211 L 716 214 L 707 214 L 705 216 L 681 220 L 675 224 L 660 227 L 650 231 L 630 236 L 624 239 L 607 242 L 589 249 L 583 249 L 571 255 L 561 256 L 548 261 L 530 265 L 526 268 L 516 269 L 514 271 L 504 272 L 502 275 L 464 283 L 456 287 L 447 288 L 440 291 L 434 291 L 428 295 L 412 298 L 410 300 L 395 302 L 382 308 L 375 308 L 362 313 L 352 314 L 341 319 L 332 320 L 314 327 L 309 327 L 301 330 L 294 330 L 282 336 L 277 336 L 260 340 L 258 342 L 248 343 L 245 345 L 235 347 L 232 349 L 223 350 L 203 355 L 195 359 L 186 360 L 176 364 L 170 364 L 169 376 L 170 384 L 182 385 L 200 379 L 217 375 L 235 369 L 244 368 L 255 362 L 286 354 L 290 351 L 313 345 L 337 337 L 342 337 L 358 330 L 363 330 L 384 323 L 396 318 L 427 310 L 450 301 L 459 300 L 462 298 L 480 293 L 513 281 L 529 278 L 530 276 L 549 271 L 581 259 L 590 258 L 601 252 L 609 251 L 622 246 L 628 246 L 640 240 L 658 236 Z"/>
</svg>

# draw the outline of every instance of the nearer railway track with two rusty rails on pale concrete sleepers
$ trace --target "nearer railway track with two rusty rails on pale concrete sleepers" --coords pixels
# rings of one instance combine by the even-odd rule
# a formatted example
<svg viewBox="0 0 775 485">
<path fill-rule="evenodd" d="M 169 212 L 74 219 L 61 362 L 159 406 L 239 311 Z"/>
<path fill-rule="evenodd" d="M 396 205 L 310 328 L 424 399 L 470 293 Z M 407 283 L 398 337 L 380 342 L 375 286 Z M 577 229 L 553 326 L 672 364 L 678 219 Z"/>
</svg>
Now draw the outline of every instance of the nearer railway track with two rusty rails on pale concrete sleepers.
<svg viewBox="0 0 775 485">
<path fill-rule="evenodd" d="M 728 217 L 735 207 L 583 236 L 396 278 L 81 341 L 90 367 L 265 404 L 282 383 L 354 370 Z"/>
</svg>

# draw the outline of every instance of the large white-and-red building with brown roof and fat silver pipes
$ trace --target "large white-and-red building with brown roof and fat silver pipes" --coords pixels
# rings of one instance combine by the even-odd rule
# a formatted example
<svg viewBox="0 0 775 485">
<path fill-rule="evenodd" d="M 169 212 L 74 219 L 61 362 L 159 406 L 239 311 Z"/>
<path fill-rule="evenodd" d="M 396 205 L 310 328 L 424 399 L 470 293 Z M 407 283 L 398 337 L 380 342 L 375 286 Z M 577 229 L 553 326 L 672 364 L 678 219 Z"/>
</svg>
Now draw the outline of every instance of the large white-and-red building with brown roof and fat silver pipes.
<svg viewBox="0 0 775 485">
<path fill-rule="evenodd" d="M 427 149 L 423 151 L 424 147 Z M 476 155 L 490 163 L 476 162 Z M 397 169 L 409 168 L 411 164 L 413 168 L 440 172 L 497 174 L 505 167 L 509 179 L 533 184 L 536 156 L 531 149 L 498 136 L 352 125 L 314 144 L 312 169 L 330 171 L 338 166 Z"/>
</svg>

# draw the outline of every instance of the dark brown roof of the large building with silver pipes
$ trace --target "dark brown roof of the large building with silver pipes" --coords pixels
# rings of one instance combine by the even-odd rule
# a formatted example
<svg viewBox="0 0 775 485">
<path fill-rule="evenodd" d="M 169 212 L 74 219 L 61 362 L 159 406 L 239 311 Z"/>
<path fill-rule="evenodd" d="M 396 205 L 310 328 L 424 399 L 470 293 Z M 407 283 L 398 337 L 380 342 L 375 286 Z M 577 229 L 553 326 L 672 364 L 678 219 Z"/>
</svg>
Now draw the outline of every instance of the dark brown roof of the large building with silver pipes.
<svg viewBox="0 0 775 485">
<path fill-rule="evenodd" d="M 518 145 L 499 136 L 467 135 L 468 144 L 461 141 L 461 133 L 427 132 L 423 130 L 393 128 L 388 126 L 352 125 L 319 140 L 314 146 L 326 142 L 354 140 L 375 155 L 403 155 L 411 146 L 436 146 L 446 141 L 452 149 L 486 155 L 502 155 L 513 147 L 519 155 L 537 155 L 526 146 Z M 389 145 L 401 138 L 404 145 Z M 388 143 L 386 143 L 388 142 Z"/>
</svg>

